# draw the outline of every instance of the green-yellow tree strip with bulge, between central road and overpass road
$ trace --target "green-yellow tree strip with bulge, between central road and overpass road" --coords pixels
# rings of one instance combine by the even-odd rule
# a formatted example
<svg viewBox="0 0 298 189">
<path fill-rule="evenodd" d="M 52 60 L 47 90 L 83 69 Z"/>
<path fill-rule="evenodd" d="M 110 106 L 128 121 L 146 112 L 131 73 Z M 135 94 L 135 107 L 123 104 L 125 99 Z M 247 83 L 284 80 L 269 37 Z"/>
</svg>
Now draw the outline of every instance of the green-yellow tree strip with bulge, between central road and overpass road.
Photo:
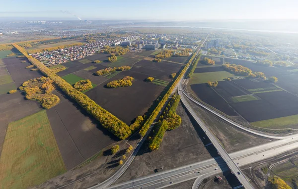
<svg viewBox="0 0 298 189">
<path fill-rule="evenodd" d="M 180 96 L 173 95 L 163 112 L 163 116 L 160 116 L 162 121 L 158 121 L 157 132 L 154 134 L 153 139 L 149 143 L 150 150 L 157 150 L 162 142 L 165 132 L 173 130 L 181 124 L 181 117 L 176 114 L 176 108 L 179 101 Z"/>
</svg>

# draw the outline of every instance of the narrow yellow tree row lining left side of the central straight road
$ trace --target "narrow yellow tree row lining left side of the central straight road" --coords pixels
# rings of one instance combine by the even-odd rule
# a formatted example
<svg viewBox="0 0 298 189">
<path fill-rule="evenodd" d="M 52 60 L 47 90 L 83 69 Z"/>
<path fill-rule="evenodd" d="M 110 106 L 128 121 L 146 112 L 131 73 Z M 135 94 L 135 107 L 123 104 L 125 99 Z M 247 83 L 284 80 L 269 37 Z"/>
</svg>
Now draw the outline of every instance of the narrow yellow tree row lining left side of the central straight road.
<svg viewBox="0 0 298 189">
<path fill-rule="evenodd" d="M 183 67 L 183 69 L 179 73 L 178 77 L 176 77 L 176 79 L 172 82 L 172 84 L 171 84 L 169 90 L 167 91 L 167 93 L 164 94 L 164 96 L 162 97 L 162 99 L 159 101 L 159 103 L 157 104 L 157 106 L 155 107 L 155 109 L 152 111 L 152 113 L 150 114 L 150 116 L 148 117 L 148 119 L 146 120 L 146 122 L 144 123 L 144 125 L 142 126 L 142 128 L 141 128 L 141 130 L 139 132 L 139 134 L 142 137 L 144 137 L 146 135 L 146 133 L 147 133 L 150 125 L 153 123 L 154 119 L 158 115 L 158 113 L 161 110 L 162 106 L 167 101 L 167 99 L 170 96 L 170 94 L 172 93 L 172 91 L 175 89 L 175 87 L 178 84 L 179 80 L 183 77 L 183 75 L 186 72 L 188 66 L 193 62 L 193 60 L 195 58 L 195 55 L 196 55 L 196 53 L 193 53 L 193 55 L 189 59 L 188 63 Z"/>
</svg>

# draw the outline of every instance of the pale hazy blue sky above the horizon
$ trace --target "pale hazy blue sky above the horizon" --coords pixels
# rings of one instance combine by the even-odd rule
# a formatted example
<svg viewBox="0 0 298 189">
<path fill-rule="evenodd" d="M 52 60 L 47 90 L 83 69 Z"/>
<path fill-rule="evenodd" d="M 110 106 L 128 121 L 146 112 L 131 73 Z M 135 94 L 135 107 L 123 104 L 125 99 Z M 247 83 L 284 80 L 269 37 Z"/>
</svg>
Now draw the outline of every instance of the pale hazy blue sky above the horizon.
<svg viewBox="0 0 298 189">
<path fill-rule="evenodd" d="M 2 0 L 0 17 L 53 19 L 298 19 L 298 0 Z M 64 13 L 62 12 L 64 11 Z"/>
</svg>

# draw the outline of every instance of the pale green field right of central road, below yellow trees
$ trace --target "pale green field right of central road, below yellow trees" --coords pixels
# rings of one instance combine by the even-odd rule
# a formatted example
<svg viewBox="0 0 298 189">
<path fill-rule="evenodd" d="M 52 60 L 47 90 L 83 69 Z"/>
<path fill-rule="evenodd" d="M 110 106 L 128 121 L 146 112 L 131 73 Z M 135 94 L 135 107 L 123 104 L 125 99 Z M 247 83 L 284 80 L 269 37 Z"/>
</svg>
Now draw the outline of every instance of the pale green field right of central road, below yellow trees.
<svg viewBox="0 0 298 189">
<path fill-rule="evenodd" d="M 190 79 L 190 85 L 207 83 L 209 81 L 223 81 L 224 78 L 229 77 L 234 77 L 234 75 L 226 71 L 194 73 Z"/>
</svg>

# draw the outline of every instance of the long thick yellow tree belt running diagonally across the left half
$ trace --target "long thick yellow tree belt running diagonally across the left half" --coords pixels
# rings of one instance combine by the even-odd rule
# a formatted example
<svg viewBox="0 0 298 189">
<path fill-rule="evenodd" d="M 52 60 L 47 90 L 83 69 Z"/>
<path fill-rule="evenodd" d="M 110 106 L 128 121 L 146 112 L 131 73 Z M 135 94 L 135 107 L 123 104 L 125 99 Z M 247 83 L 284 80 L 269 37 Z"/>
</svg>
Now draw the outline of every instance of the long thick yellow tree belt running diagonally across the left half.
<svg viewBox="0 0 298 189">
<path fill-rule="evenodd" d="M 84 108 L 89 114 L 97 119 L 102 127 L 109 130 L 121 140 L 124 140 L 131 135 L 129 126 L 126 125 L 123 121 L 119 120 L 116 116 L 112 115 L 110 112 L 96 104 L 87 95 L 75 90 L 71 84 L 67 83 L 64 79 L 57 76 L 43 63 L 33 58 L 32 56 L 29 56 L 22 47 L 18 46 L 17 44 L 13 44 L 13 46 L 16 47 L 22 54 L 24 54 L 28 58 L 28 60 L 33 65 L 35 65 L 42 73 L 52 79 L 54 83 L 67 95 L 73 98 L 82 108 Z"/>
</svg>

